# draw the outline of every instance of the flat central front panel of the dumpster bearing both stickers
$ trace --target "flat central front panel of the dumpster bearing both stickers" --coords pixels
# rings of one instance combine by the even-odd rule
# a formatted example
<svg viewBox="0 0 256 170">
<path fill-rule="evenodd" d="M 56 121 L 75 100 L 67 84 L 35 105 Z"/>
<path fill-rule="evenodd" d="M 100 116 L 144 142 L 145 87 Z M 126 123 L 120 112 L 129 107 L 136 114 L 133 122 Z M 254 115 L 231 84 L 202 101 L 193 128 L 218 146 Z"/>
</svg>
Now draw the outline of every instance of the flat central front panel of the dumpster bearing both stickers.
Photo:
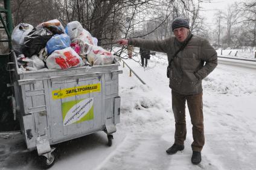
<svg viewBox="0 0 256 170">
<path fill-rule="evenodd" d="M 50 101 L 53 120 L 51 143 L 63 142 L 103 129 L 100 77 L 80 77 L 53 81 L 51 84 Z M 89 89 L 95 84 L 98 85 L 98 89 L 90 92 Z M 56 99 L 59 94 L 62 96 Z"/>
</svg>

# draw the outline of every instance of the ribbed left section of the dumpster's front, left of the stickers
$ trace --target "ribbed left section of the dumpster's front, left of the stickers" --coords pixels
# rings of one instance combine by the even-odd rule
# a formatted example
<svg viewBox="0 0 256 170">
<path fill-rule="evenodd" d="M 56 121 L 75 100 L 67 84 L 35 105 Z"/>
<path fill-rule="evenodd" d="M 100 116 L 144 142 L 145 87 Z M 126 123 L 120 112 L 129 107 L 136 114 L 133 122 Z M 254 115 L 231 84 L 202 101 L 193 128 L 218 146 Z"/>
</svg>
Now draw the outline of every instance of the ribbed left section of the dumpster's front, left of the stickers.
<svg viewBox="0 0 256 170">
<path fill-rule="evenodd" d="M 28 149 L 33 150 L 37 137 L 51 138 L 47 115 L 50 112 L 47 81 L 37 80 L 32 84 L 23 84 L 21 93 L 24 104 L 22 131 L 25 133 Z"/>
</svg>

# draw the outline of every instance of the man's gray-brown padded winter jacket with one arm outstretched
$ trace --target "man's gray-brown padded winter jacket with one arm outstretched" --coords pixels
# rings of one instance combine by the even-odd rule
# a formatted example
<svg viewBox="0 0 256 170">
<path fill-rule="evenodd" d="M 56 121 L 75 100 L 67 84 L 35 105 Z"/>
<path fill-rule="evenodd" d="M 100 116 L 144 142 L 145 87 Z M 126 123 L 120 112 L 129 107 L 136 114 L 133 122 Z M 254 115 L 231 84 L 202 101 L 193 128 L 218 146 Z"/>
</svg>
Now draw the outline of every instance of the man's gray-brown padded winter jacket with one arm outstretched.
<svg viewBox="0 0 256 170">
<path fill-rule="evenodd" d="M 168 61 L 182 45 L 175 37 L 165 40 L 129 39 L 128 44 L 152 51 L 165 52 Z M 171 90 L 182 95 L 200 93 L 203 90 L 202 79 L 210 74 L 216 66 L 217 53 L 214 48 L 206 39 L 193 36 L 185 49 L 180 51 L 171 62 L 169 86 Z"/>
</svg>

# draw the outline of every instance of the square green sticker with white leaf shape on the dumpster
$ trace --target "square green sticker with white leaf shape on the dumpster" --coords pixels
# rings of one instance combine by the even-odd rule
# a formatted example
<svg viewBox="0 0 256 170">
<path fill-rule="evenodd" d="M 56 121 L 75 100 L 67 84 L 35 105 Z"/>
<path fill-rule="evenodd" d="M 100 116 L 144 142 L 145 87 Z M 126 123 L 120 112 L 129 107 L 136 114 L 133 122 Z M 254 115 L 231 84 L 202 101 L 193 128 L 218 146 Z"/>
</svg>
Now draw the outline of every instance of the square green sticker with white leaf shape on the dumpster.
<svg viewBox="0 0 256 170">
<path fill-rule="evenodd" d="M 63 126 L 94 119 L 94 98 L 62 103 Z"/>
</svg>

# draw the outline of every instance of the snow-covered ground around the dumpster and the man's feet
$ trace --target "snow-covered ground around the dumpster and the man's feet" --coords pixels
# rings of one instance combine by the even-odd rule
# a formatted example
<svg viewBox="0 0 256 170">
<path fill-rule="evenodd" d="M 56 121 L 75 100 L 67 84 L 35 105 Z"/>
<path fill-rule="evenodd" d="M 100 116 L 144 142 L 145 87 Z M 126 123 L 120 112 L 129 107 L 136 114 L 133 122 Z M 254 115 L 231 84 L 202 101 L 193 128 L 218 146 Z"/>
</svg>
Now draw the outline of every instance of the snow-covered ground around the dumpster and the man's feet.
<svg viewBox="0 0 256 170">
<path fill-rule="evenodd" d="M 205 146 L 202 162 L 193 165 L 188 110 L 185 150 L 165 153 L 174 141 L 166 56 L 152 56 L 147 68 L 135 62 L 138 57 L 133 59 L 125 61 L 146 85 L 135 75 L 129 77 L 129 69 L 121 62 L 121 122 L 113 145 L 106 146 L 103 132 L 60 143 L 51 169 L 255 169 L 256 68 L 245 70 L 220 63 L 203 81 Z M 37 154 L 24 151 L 20 134 L 2 134 L 0 142 L 1 170 L 39 169 Z"/>
</svg>

